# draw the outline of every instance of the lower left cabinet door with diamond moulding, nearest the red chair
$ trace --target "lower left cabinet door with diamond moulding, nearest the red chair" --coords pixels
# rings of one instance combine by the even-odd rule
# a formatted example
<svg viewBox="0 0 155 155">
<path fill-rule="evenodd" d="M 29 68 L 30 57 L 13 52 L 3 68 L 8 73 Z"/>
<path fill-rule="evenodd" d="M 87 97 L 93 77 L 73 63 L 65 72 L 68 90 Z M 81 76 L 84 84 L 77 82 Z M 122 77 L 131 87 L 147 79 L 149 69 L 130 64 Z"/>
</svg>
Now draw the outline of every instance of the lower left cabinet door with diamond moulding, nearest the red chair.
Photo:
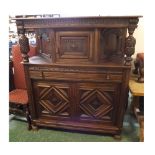
<svg viewBox="0 0 155 155">
<path fill-rule="evenodd" d="M 38 118 L 70 117 L 70 88 L 68 84 L 56 82 L 34 82 L 35 107 Z"/>
</svg>

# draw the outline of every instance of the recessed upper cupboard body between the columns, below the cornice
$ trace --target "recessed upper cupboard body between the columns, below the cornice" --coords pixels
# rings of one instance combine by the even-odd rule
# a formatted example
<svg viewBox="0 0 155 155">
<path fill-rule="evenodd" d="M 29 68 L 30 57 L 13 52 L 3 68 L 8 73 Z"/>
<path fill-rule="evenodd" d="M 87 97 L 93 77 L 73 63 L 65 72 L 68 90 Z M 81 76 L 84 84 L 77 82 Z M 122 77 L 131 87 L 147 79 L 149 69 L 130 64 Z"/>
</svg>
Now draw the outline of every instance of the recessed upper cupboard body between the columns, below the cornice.
<svg viewBox="0 0 155 155">
<path fill-rule="evenodd" d="M 103 63 L 124 57 L 126 28 L 95 30 L 39 29 L 38 52 L 52 62 Z"/>
</svg>

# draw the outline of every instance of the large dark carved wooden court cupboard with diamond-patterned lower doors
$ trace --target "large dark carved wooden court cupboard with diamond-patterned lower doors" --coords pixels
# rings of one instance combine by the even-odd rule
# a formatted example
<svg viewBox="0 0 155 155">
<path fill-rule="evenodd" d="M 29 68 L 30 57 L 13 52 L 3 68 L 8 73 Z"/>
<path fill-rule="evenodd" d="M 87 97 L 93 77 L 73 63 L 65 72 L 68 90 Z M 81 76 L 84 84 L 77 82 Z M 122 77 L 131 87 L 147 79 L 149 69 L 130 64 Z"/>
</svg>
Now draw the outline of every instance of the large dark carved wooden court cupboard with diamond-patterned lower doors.
<svg viewBox="0 0 155 155">
<path fill-rule="evenodd" d="M 139 16 L 15 20 L 33 127 L 119 135 Z M 30 59 L 26 32 L 37 39 Z"/>
</svg>

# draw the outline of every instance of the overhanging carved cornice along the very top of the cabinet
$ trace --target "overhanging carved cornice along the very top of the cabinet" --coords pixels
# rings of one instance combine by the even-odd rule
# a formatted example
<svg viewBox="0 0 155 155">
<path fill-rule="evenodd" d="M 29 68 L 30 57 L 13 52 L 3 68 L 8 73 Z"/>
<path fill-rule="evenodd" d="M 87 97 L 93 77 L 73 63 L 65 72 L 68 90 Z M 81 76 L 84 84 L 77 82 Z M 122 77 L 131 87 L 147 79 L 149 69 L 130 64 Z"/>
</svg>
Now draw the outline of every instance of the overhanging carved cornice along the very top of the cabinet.
<svg viewBox="0 0 155 155">
<path fill-rule="evenodd" d="M 50 15 L 19 15 L 16 20 L 17 28 L 103 28 L 128 27 L 138 24 L 141 16 L 88 16 L 88 17 L 53 17 Z"/>
</svg>

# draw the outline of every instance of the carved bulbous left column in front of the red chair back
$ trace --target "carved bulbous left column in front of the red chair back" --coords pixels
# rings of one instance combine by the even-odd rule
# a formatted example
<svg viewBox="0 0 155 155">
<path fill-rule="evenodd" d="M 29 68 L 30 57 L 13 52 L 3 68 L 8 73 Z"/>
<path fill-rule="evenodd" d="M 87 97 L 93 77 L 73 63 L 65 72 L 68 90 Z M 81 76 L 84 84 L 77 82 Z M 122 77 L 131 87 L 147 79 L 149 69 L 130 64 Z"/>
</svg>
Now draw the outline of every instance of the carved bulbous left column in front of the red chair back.
<svg viewBox="0 0 155 155">
<path fill-rule="evenodd" d="M 19 36 L 20 51 L 22 53 L 23 62 L 29 62 L 28 52 L 30 51 L 29 40 L 25 36 L 24 30 Z"/>
</svg>

